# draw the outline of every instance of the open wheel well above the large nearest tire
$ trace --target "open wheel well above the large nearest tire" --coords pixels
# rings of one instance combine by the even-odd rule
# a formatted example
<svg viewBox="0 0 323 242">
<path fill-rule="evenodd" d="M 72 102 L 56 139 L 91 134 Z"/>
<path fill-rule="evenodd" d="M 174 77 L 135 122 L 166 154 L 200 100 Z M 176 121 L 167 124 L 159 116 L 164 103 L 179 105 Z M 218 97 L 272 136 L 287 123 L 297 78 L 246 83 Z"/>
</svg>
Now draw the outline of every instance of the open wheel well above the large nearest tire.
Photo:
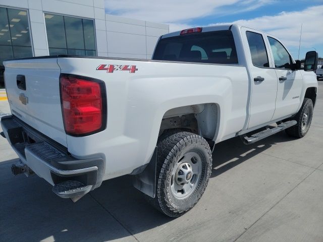
<svg viewBox="0 0 323 242">
<path fill-rule="evenodd" d="M 202 103 L 168 110 L 161 120 L 159 136 L 171 129 L 189 130 L 212 140 L 217 134 L 220 112 L 216 103 Z"/>
</svg>

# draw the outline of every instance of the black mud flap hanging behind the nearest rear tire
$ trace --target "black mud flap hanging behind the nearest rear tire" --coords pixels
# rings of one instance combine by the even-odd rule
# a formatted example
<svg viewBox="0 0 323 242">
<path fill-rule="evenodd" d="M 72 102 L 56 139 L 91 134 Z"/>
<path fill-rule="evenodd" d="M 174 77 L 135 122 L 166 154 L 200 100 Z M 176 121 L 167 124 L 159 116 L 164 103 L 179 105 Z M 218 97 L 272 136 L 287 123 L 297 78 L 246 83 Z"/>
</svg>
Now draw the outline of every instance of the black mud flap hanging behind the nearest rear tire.
<svg viewBox="0 0 323 242">
<path fill-rule="evenodd" d="M 156 164 L 157 164 L 157 147 L 146 168 L 134 176 L 133 186 L 149 197 L 155 197 L 156 187 Z"/>
</svg>

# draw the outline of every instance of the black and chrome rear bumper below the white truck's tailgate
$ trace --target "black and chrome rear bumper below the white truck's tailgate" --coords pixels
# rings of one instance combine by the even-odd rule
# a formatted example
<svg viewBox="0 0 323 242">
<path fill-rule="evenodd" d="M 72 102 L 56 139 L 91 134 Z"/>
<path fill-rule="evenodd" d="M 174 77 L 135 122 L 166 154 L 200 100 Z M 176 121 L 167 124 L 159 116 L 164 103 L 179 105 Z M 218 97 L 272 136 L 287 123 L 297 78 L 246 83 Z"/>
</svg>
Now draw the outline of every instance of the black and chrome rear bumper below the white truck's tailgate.
<svg viewBox="0 0 323 242">
<path fill-rule="evenodd" d="M 1 126 L 22 162 L 52 186 L 66 180 L 80 181 L 92 186 L 92 190 L 101 185 L 104 170 L 102 158 L 75 159 L 66 147 L 13 115 L 2 117 Z"/>
</svg>

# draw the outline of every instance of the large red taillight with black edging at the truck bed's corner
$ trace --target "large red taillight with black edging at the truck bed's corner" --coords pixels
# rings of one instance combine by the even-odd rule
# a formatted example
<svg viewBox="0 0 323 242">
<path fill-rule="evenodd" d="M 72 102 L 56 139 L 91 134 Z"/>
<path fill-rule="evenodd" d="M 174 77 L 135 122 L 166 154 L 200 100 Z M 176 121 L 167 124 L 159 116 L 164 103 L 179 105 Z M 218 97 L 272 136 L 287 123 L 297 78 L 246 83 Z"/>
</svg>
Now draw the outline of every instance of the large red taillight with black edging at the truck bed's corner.
<svg viewBox="0 0 323 242">
<path fill-rule="evenodd" d="M 61 75 L 60 85 L 65 132 L 84 136 L 104 129 L 103 82 Z"/>
</svg>

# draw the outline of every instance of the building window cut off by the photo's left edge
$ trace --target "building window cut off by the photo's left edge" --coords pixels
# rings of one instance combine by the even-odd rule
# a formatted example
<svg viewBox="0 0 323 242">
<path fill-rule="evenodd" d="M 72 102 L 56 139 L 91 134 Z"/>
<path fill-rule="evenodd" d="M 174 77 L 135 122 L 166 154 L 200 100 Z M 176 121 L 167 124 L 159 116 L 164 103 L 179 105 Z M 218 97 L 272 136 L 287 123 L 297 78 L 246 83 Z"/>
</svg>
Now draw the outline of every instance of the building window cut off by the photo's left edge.
<svg viewBox="0 0 323 242">
<path fill-rule="evenodd" d="M 3 61 L 31 56 L 27 11 L 0 7 L 0 88 L 5 87 Z"/>
</svg>

